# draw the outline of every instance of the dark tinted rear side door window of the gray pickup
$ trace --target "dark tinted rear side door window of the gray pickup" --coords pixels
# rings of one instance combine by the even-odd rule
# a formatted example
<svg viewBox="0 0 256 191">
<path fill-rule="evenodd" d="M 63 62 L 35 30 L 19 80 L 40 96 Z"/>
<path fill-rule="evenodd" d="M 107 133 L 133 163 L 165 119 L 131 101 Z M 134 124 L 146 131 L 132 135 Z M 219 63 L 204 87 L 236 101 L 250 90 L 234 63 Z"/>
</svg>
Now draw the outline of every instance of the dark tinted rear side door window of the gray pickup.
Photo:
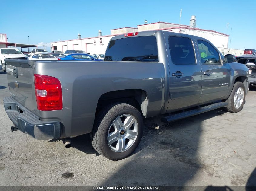
<svg viewBox="0 0 256 191">
<path fill-rule="evenodd" d="M 191 39 L 185 37 L 169 37 L 171 60 L 174 64 L 196 64 Z"/>
</svg>

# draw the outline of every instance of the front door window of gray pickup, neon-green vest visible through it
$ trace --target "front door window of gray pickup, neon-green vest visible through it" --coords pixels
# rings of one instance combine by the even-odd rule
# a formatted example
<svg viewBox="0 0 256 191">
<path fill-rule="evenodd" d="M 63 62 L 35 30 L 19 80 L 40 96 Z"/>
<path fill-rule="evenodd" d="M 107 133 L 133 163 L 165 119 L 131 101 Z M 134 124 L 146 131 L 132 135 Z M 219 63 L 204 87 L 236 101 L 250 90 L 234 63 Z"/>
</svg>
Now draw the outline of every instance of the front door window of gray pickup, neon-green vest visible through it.
<svg viewBox="0 0 256 191">
<path fill-rule="evenodd" d="M 199 56 L 201 56 L 202 63 L 205 64 L 219 64 L 220 57 L 217 50 L 208 42 L 198 40 Z"/>
</svg>

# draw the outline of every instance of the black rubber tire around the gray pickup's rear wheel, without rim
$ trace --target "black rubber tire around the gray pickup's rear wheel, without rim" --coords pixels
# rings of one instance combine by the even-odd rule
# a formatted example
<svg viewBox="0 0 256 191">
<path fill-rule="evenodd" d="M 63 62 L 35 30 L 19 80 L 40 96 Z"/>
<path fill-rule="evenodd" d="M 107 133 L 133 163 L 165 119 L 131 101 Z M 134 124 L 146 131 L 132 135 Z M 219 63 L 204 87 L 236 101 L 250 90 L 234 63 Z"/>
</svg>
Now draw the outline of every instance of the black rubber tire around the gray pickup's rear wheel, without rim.
<svg viewBox="0 0 256 191">
<path fill-rule="evenodd" d="M 133 144 L 125 151 L 115 152 L 108 145 L 108 132 L 111 124 L 119 116 L 129 114 L 138 124 L 137 137 Z M 116 161 L 128 157 L 139 145 L 143 134 L 143 119 L 141 113 L 133 106 L 126 103 L 114 103 L 101 110 L 95 118 L 95 125 L 91 132 L 93 148 L 102 156 Z"/>
</svg>

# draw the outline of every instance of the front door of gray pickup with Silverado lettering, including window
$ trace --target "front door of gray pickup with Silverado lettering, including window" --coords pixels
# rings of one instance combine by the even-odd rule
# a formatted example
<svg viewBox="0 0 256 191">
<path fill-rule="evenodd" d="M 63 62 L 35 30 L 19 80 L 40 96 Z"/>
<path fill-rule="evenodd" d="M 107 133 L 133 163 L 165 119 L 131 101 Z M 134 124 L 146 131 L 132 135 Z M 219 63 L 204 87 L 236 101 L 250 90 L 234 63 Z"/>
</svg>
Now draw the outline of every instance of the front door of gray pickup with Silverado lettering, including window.
<svg viewBox="0 0 256 191">
<path fill-rule="evenodd" d="M 197 40 L 198 53 L 202 65 L 203 86 L 199 104 L 224 99 L 230 86 L 231 69 L 229 64 L 221 64 L 221 55 L 213 45 Z"/>
</svg>

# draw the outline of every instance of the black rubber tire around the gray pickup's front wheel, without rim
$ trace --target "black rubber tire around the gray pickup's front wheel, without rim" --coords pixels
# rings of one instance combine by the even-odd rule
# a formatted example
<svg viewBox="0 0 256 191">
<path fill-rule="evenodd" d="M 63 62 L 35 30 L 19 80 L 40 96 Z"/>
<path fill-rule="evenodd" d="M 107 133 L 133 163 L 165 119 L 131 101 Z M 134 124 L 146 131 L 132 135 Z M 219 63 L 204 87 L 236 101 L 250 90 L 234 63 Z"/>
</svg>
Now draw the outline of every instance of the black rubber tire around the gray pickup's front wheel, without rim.
<svg viewBox="0 0 256 191">
<path fill-rule="evenodd" d="M 236 108 L 234 105 L 234 96 L 236 91 L 238 90 L 238 88 L 242 88 L 244 91 L 244 97 L 243 97 L 243 102 L 240 105 L 239 108 Z M 226 100 L 226 102 L 228 103 L 228 105 L 224 108 L 226 111 L 231 112 L 231 113 L 237 113 L 239 111 L 241 111 L 244 107 L 244 103 L 245 103 L 245 87 L 244 84 L 240 81 L 235 82 L 234 87 L 231 91 L 231 94 L 229 95 L 228 99 Z"/>
</svg>

